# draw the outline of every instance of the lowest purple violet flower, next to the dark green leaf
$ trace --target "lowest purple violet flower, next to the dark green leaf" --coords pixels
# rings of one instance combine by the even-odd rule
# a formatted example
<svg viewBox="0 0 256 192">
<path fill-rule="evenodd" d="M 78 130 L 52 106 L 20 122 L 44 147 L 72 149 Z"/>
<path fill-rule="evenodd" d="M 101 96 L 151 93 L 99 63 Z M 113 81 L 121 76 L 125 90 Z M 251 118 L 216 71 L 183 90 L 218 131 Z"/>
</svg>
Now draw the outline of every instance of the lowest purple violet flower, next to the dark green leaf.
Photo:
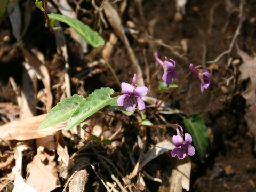
<svg viewBox="0 0 256 192">
<path fill-rule="evenodd" d="M 172 136 L 172 142 L 176 146 L 172 150 L 172 157 L 175 157 L 177 155 L 178 158 L 181 160 L 186 157 L 186 153 L 190 156 L 193 156 L 196 150 L 193 146 L 190 145 L 192 142 L 191 135 L 188 133 L 185 133 L 185 141 L 184 141 L 178 127 L 176 127 L 176 131 L 177 131 L 177 135 Z"/>
</svg>

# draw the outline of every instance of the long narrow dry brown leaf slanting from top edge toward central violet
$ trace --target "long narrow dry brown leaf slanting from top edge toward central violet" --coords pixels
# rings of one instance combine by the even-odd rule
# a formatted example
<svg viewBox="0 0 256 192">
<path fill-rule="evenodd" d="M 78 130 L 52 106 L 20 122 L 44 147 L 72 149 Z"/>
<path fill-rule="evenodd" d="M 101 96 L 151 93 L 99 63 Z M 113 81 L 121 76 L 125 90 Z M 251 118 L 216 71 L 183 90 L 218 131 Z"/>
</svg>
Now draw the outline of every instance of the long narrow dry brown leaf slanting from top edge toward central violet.
<svg viewBox="0 0 256 192">
<path fill-rule="evenodd" d="M 141 68 L 139 66 L 139 63 L 135 57 L 135 54 L 132 50 L 132 47 L 124 33 L 124 29 L 122 26 L 121 18 L 119 17 L 117 11 L 114 9 L 114 7 L 109 3 L 109 1 L 105 1 L 105 8 L 104 13 L 110 23 L 110 25 L 113 27 L 115 33 L 121 38 L 121 40 L 124 42 L 126 49 L 128 51 L 128 54 L 130 56 L 131 62 L 132 62 L 132 68 L 135 74 L 137 74 L 137 84 L 138 86 L 144 86 L 144 80 Z"/>
</svg>

